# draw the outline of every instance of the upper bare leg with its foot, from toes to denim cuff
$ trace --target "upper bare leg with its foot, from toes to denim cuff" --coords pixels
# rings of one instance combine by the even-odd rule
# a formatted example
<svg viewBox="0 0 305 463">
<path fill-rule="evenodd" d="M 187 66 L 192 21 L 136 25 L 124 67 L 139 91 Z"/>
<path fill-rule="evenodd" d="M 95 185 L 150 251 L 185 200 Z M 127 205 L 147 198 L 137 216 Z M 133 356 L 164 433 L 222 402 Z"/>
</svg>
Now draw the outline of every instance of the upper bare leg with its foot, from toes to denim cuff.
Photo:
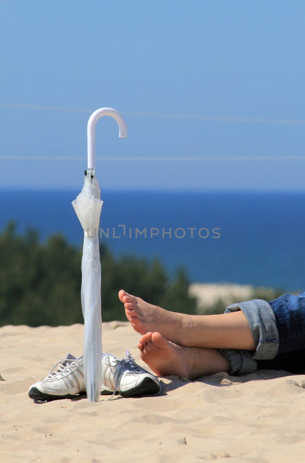
<svg viewBox="0 0 305 463">
<path fill-rule="evenodd" d="M 121 289 L 127 319 L 140 334 L 159 332 L 181 346 L 255 350 L 256 345 L 241 311 L 220 315 L 186 315 L 148 304 Z"/>
</svg>

